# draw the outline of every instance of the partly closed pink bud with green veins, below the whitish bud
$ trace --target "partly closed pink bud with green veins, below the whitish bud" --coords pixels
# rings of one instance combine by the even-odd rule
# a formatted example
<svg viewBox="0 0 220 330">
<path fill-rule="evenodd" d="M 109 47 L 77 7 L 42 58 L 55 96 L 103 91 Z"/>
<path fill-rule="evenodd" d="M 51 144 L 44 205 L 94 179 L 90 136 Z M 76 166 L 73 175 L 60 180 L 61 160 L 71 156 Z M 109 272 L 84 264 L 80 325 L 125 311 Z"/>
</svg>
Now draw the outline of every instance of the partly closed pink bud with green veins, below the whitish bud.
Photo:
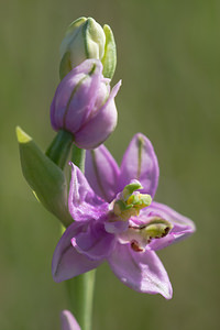
<svg viewBox="0 0 220 330">
<path fill-rule="evenodd" d="M 55 131 L 73 134 L 81 148 L 103 143 L 117 125 L 114 97 L 119 81 L 110 91 L 110 79 L 103 78 L 99 59 L 86 59 L 58 85 L 52 106 L 51 122 Z"/>
</svg>

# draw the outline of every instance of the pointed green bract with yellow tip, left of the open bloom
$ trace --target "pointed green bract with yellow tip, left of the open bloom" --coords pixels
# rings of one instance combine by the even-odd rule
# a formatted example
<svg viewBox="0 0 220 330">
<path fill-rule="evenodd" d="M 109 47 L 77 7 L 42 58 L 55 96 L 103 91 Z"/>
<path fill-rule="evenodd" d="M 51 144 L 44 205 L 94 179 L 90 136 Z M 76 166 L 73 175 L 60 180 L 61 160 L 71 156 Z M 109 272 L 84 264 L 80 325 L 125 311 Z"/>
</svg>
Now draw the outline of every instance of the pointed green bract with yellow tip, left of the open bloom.
<svg viewBox="0 0 220 330">
<path fill-rule="evenodd" d="M 23 176 L 43 206 L 65 227 L 73 222 L 67 209 L 67 184 L 55 165 L 20 128 L 16 128 Z"/>
</svg>

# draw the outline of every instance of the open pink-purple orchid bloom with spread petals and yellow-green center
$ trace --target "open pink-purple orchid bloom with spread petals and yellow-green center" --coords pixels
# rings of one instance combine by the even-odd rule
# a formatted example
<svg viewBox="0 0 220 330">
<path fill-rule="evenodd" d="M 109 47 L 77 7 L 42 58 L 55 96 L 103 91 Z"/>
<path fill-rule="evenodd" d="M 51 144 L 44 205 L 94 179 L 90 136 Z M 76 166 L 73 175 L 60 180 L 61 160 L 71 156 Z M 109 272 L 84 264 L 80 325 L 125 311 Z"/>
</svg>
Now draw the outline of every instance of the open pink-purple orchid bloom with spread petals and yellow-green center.
<svg viewBox="0 0 220 330">
<path fill-rule="evenodd" d="M 129 287 L 172 298 L 155 251 L 195 231 L 191 220 L 153 201 L 158 164 L 151 142 L 132 139 L 121 167 L 101 145 L 87 152 L 86 176 L 72 164 L 69 212 L 75 220 L 59 240 L 52 272 L 62 282 L 108 261 Z"/>
</svg>

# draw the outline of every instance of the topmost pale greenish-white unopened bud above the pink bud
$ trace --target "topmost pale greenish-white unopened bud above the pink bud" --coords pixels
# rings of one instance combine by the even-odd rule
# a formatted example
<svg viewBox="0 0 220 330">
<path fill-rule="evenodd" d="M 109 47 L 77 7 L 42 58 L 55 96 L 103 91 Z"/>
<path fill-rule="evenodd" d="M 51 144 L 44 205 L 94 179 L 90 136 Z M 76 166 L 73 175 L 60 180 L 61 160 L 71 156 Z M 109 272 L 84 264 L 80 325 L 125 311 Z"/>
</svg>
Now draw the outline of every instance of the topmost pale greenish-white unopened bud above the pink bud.
<svg viewBox="0 0 220 330">
<path fill-rule="evenodd" d="M 109 25 L 101 25 L 91 18 L 74 21 L 61 45 L 61 78 L 87 58 L 100 59 L 103 76 L 112 78 L 117 65 L 113 33 Z"/>
</svg>

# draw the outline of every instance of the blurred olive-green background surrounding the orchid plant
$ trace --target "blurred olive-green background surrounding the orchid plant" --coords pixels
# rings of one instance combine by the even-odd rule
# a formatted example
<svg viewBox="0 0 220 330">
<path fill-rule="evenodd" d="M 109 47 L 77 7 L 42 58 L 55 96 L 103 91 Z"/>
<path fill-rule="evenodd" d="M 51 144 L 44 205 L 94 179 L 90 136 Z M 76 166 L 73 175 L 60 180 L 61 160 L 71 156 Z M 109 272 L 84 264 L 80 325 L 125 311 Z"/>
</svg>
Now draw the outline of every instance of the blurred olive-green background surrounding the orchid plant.
<svg viewBox="0 0 220 330">
<path fill-rule="evenodd" d="M 220 1 L 11 0 L 0 13 L 0 329 L 59 329 L 64 284 L 51 275 L 58 221 L 24 182 L 14 128 L 45 150 L 59 44 L 81 15 L 108 23 L 118 45 L 119 124 L 107 145 L 120 162 L 138 131 L 153 142 L 156 200 L 190 217 L 197 232 L 160 252 L 174 298 L 122 285 L 98 271 L 94 330 L 219 329 Z"/>
</svg>

